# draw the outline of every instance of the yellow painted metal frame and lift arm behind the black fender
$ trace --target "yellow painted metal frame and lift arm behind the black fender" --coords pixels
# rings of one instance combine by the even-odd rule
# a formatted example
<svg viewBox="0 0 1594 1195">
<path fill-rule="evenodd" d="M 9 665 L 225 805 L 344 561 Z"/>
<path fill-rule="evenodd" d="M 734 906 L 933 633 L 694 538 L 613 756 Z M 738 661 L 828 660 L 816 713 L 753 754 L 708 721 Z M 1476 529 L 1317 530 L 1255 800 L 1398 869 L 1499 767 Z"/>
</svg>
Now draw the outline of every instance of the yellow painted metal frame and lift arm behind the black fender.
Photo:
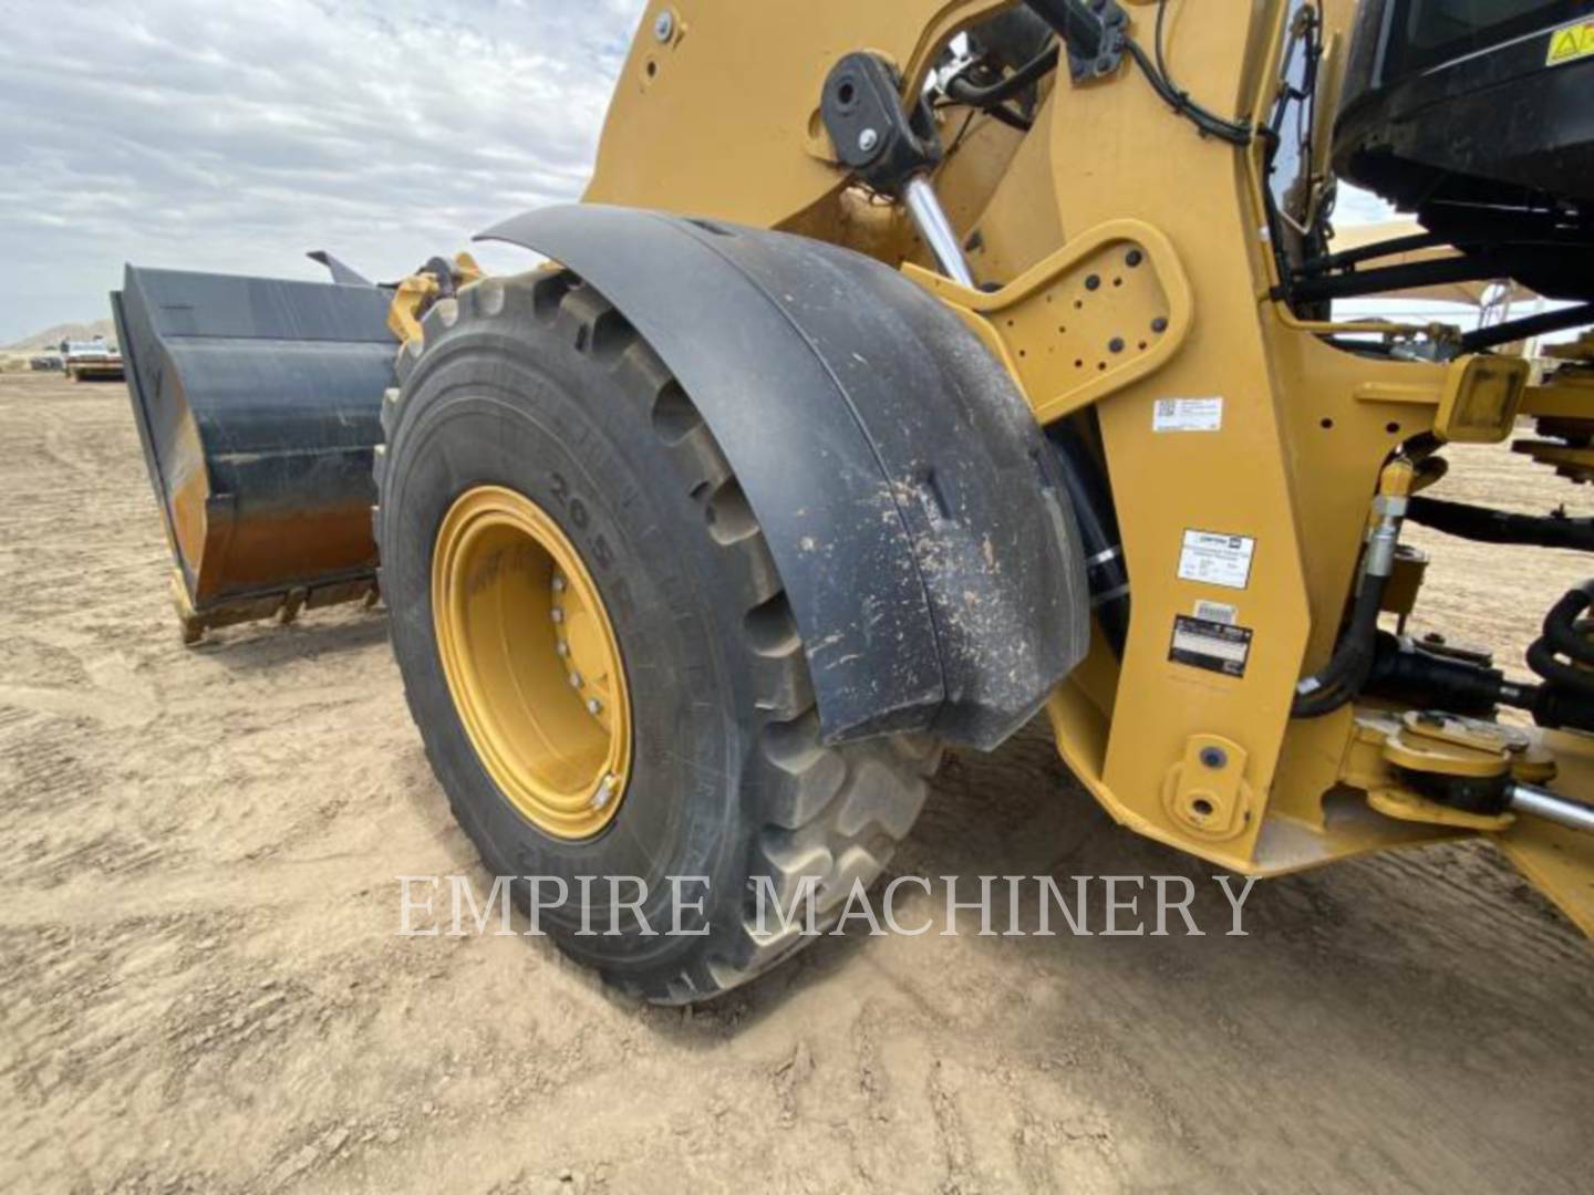
<svg viewBox="0 0 1594 1195">
<path fill-rule="evenodd" d="M 1565 387 L 1524 398 L 1522 362 L 1372 360 L 1329 344 L 1325 333 L 1400 330 L 1313 323 L 1274 301 L 1262 142 L 1199 135 L 1129 64 L 1082 84 L 1057 72 L 1028 132 L 939 110 L 955 147 L 934 186 L 976 277 L 1001 285 L 972 290 L 937 272 L 902 207 L 870 202 L 837 169 L 821 86 L 840 54 L 867 48 L 917 96 L 947 40 L 1004 6 L 655 3 L 585 199 L 870 253 L 972 327 L 1042 424 L 1093 413 L 1133 615 L 1122 658 L 1098 637 L 1047 715 L 1062 757 L 1117 821 L 1245 875 L 1487 833 L 1594 932 L 1594 836 L 1511 814 L 1457 817 L 1422 798 L 1396 771 L 1401 711 L 1387 703 L 1291 717 L 1298 680 L 1334 647 L 1392 451 L 1419 432 L 1502 441 L 1519 413 L 1553 409 Z M 1170 67 L 1207 108 L 1259 120 L 1278 96 L 1298 8 L 1173 0 Z M 1331 110 L 1353 5 L 1318 8 L 1318 104 Z M 1149 40 L 1156 6 L 1127 10 Z M 1315 147 L 1310 177 L 1325 159 Z M 1200 416 L 1191 425 L 1164 417 L 1170 409 Z M 1207 569 L 1200 535 L 1239 547 Z M 1170 660 L 1178 620 L 1197 607 L 1248 633 L 1243 674 Z M 1533 733 L 1500 750 L 1502 768 L 1532 758 L 1533 776 L 1554 773 L 1551 787 L 1594 790 L 1581 735 Z"/>
</svg>

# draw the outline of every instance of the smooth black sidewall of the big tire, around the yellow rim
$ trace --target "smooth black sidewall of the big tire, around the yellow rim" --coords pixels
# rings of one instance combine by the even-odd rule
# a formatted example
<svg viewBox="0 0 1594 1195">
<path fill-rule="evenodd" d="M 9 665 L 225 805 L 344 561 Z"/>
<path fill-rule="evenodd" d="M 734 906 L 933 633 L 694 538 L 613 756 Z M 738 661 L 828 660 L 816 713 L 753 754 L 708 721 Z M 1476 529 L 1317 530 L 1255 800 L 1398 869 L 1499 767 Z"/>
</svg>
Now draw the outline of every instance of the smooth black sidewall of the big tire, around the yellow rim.
<svg viewBox="0 0 1594 1195">
<path fill-rule="evenodd" d="M 741 758 L 738 744 L 748 735 L 732 711 L 751 709 L 752 682 L 722 648 L 724 620 L 714 613 L 733 598 L 714 591 L 703 511 L 662 451 L 647 405 L 625 392 L 612 366 L 595 368 L 555 338 L 556 328 L 537 320 L 507 336 L 461 328 L 429 346 L 414 366 L 381 496 L 383 591 L 416 723 L 493 875 L 563 880 L 567 903 L 544 908 L 539 923 L 577 958 L 626 970 L 668 967 L 701 950 L 701 938 L 663 931 L 706 923 L 714 938 L 740 919 L 744 843 L 756 833 L 744 789 L 757 776 Z M 526 496 L 575 543 L 625 661 L 630 781 L 614 821 L 585 841 L 550 838 L 497 789 L 465 735 L 437 655 L 437 529 L 453 502 L 481 484 Z M 655 935 L 644 935 L 630 913 L 609 923 L 611 876 L 647 884 L 642 913 Z M 679 903 L 669 876 L 682 878 Z M 705 883 L 692 880 L 698 876 Z M 542 899 L 552 900 L 555 889 L 553 880 L 544 881 Z M 524 905 L 529 883 L 512 881 L 512 891 Z M 618 895 L 634 899 L 634 886 L 620 881 Z M 700 899 L 701 915 L 690 910 Z"/>
</svg>

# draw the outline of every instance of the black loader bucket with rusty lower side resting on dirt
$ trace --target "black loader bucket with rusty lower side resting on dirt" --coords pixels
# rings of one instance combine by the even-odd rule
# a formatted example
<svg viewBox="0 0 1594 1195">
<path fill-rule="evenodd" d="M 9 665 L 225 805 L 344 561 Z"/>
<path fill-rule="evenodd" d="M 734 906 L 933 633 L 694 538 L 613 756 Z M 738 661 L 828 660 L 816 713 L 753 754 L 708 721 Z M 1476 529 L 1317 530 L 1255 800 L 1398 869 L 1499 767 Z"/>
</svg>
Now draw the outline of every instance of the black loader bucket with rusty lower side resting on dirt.
<svg viewBox="0 0 1594 1195">
<path fill-rule="evenodd" d="M 183 639 L 375 596 L 391 292 L 128 266 L 112 295 Z"/>
</svg>

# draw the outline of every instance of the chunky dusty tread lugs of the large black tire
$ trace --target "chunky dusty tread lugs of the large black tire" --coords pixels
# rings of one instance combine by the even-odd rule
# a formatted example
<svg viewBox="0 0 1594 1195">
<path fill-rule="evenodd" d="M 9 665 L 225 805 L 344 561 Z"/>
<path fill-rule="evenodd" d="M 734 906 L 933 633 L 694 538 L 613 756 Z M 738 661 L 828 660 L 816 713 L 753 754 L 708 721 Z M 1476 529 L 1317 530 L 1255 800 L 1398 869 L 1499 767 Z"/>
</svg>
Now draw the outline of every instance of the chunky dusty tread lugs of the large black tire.
<svg viewBox="0 0 1594 1195">
<path fill-rule="evenodd" d="M 759 701 L 751 782 L 764 793 L 762 825 L 749 843 L 749 875 L 768 875 L 781 900 L 805 876 L 816 876 L 821 916 L 834 921 L 854 878 L 872 883 L 917 819 L 928 781 L 940 762 L 928 736 L 889 736 L 842 746 L 819 741 L 819 717 L 797 633 L 768 542 L 708 422 L 674 381 L 663 360 L 636 328 L 593 287 L 569 271 L 544 269 L 518 277 L 493 277 L 465 287 L 446 320 L 434 306 L 422 319 L 424 338 L 398 351 L 400 389 L 383 403 L 383 435 L 403 435 L 403 397 L 422 351 L 438 349 L 473 323 L 502 322 L 505 330 L 531 315 L 553 325 L 559 338 L 609 370 L 630 400 L 642 405 L 685 492 L 703 511 L 705 539 L 733 580 L 740 609 L 727 620 L 756 677 Z M 378 503 L 373 529 L 383 532 L 383 486 L 387 454 L 378 453 Z M 414 703 L 411 703 L 414 704 Z M 427 727 L 427 757 L 438 765 Z M 746 784 L 748 781 L 744 781 Z M 450 793 L 456 817 L 461 809 Z M 705 938 L 711 946 L 668 974 L 609 974 L 618 986 L 660 1004 L 687 1004 L 724 994 L 764 974 L 805 945 L 791 932 L 760 935 L 752 910 L 735 934 Z"/>
</svg>

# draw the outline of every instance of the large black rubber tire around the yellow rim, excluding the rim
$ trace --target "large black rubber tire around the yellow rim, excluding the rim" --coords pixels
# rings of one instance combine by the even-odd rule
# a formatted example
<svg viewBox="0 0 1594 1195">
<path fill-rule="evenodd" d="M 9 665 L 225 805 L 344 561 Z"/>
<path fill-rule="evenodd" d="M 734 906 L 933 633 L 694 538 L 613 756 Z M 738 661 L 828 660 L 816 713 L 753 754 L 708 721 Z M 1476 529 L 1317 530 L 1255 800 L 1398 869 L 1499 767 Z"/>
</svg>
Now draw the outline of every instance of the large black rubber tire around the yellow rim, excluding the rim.
<svg viewBox="0 0 1594 1195">
<path fill-rule="evenodd" d="M 913 825 L 939 744 L 821 746 L 803 647 L 741 488 L 663 362 L 591 287 L 569 272 L 488 279 L 440 301 L 424 331 L 384 402 L 375 529 L 405 695 L 454 816 L 491 873 L 567 880 L 571 907 L 540 924 L 611 981 L 671 1004 L 744 983 L 808 940 L 754 932 L 756 878 L 791 902 L 816 876 L 821 924 L 834 919 Z M 583 841 L 542 833 L 499 792 L 442 671 L 434 540 L 480 484 L 555 516 L 625 660 L 631 778 L 614 821 Z M 669 924 L 665 876 L 708 876 L 708 934 L 647 937 L 622 911 L 622 934 L 606 935 L 599 881 L 599 934 L 582 935 L 580 875 L 647 878 L 655 929 Z"/>
</svg>

